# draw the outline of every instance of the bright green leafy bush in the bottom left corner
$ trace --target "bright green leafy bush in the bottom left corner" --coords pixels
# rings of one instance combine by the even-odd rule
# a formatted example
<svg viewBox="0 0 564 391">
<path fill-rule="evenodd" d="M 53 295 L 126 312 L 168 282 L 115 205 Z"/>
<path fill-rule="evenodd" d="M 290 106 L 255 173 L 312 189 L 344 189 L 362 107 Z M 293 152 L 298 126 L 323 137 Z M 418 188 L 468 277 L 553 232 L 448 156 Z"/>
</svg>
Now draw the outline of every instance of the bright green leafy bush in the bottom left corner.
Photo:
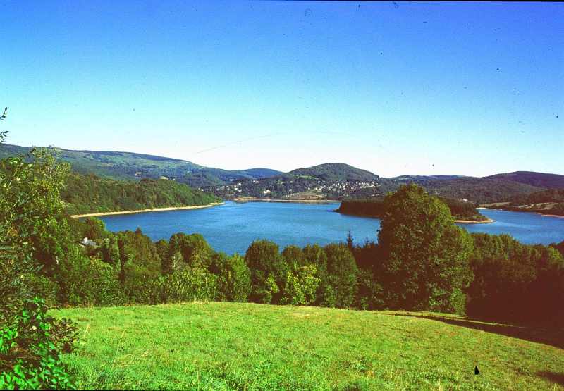
<svg viewBox="0 0 564 391">
<path fill-rule="evenodd" d="M 35 298 L 25 303 L 11 325 L 0 328 L 0 388 L 74 388 L 62 352 L 76 340 L 75 325 L 47 316 L 47 306 Z"/>
</svg>

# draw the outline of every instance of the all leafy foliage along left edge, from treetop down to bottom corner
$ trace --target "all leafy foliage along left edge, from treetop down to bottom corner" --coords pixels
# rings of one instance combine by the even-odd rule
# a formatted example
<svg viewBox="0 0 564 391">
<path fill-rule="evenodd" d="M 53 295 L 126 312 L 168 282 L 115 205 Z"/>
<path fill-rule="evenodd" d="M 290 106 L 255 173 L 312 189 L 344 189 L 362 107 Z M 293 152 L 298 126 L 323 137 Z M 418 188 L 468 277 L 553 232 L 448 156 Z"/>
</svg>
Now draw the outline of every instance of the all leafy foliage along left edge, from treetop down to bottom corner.
<svg viewBox="0 0 564 391">
<path fill-rule="evenodd" d="M 75 326 L 47 316 L 44 300 L 34 297 L 37 279 L 26 278 L 58 273 L 72 247 L 59 197 L 68 166 L 35 149 L 29 160 L 0 160 L 0 388 L 71 388 L 60 354 L 72 347 Z"/>
</svg>

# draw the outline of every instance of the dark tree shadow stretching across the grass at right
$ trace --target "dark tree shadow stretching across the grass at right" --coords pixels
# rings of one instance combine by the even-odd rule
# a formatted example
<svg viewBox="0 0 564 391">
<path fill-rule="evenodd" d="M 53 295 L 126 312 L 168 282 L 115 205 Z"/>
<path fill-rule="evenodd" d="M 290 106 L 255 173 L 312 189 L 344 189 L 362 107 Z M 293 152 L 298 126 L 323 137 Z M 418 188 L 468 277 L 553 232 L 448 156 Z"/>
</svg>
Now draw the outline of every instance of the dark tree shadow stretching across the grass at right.
<svg viewBox="0 0 564 391">
<path fill-rule="evenodd" d="M 538 342 L 545 345 L 551 345 L 564 349 L 564 329 L 563 328 L 540 328 L 523 325 L 507 325 L 499 323 L 486 323 L 482 319 L 471 318 L 450 318 L 449 316 L 441 315 L 427 315 L 427 314 L 413 314 L 406 312 L 405 314 L 393 314 L 394 316 L 412 316 L 415 318 L 425 318 L 431 321 L 439 321 L 450 325 L 458 325 L 466 328 L 473 328 L 474 330 L 482 330 L 487 333 L 495 333 L 505 335 L 506 337 L 519 338 L 520 340 L 527 340 L 530 342 Z M 558 375 L 556 373 L 554 376 Z"/>
</svg>

